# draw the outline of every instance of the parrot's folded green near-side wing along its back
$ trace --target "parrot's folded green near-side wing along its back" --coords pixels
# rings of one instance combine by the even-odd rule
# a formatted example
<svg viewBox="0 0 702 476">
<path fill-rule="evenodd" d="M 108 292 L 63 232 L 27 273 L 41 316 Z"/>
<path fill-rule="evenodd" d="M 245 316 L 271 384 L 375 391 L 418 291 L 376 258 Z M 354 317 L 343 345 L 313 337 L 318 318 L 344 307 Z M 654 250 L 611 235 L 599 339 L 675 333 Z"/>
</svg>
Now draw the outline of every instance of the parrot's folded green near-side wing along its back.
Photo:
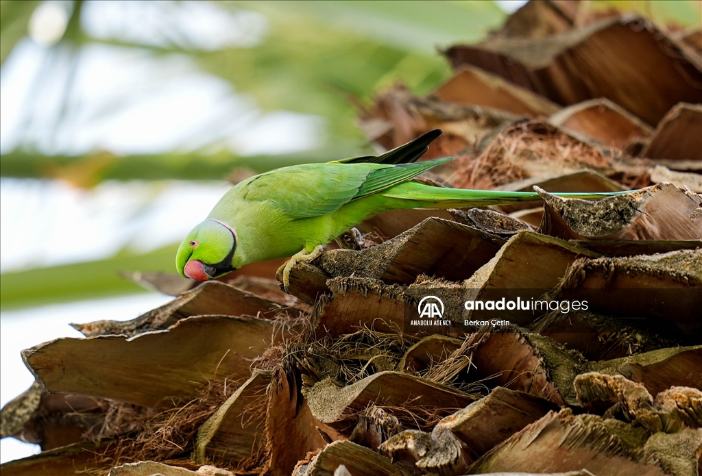
<svg viewBox="0 0 702 476">
<path fill-rule="evenodd" d="M 239 198 L 274 202 L 291 219 L 317 217 L 341 208 L 351 200 L 379 193 L 451 161 L 384 165 L 376 163 L 319 163 L 293 165 L 242 182 Z"/>
</svg>

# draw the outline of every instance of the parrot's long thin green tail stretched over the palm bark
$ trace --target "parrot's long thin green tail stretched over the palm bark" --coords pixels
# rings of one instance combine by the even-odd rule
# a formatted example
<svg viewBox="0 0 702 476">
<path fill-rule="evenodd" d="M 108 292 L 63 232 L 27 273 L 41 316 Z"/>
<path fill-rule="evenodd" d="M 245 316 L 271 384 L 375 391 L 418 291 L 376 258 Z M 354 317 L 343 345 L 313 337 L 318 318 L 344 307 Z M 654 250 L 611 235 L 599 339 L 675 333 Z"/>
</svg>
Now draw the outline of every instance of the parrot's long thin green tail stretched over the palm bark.
<svg viewBox="0 0 702 476">
<path fill-rule="evenodd" d="M 563 198 L 592 200 L 628 192 L 567 192 L 552 193 L 552 195 Z M 421 205 L 421 208 L 484 207 L 486 205 L 508 205 L 509 203 L 541 200 L 541 196 L 538 193 L 531 191 L 445 189 L 418 182 L 399 184 L 383 192 L 383 196 L 424 202 L 425 204 Z"/>
</svg>

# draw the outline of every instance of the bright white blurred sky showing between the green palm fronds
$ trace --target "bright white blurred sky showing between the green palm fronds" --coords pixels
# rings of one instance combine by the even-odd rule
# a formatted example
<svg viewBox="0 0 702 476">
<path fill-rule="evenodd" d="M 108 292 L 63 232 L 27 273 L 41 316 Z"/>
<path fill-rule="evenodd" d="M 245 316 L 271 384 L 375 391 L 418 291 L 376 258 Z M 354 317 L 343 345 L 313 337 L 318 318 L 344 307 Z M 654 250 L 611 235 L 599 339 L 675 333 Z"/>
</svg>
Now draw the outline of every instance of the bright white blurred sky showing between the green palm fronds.
<svg viewBox="0 0 702 476">
<path fill-rule="evenodd" d="M 525 2 L 496 3 L 511 12 Z M 230 83 L 199 71 L 184 55 L 95 44 L 82 50 L 74 66 L 65 104 L 70 130 L 47 134 L 71 68 L 61 55 L 52 60 L 46 46 L 56 32 L 62 34 L 65 4 L 47 5 L 32 18 L 34 40 L 20 41 L 0 70 L 3 152 L 31 144 L 49 154 L 158 154 L 216 144 L 239 155 L 283 154 L 313 149 L 324 140 L 322 118 L 263 113 Z M 257 13 L 225 15 L 205 2 L 180 5 L 88 1 L 82 27 L 102 39 L 202 49 L 251 46 L 267 31 L 265 18 Z M 105 182 L 84 190 L 59 181 L 0 179 L 0 272 L 102 259 L 124 247 L 147 252 L 176 243 L 228 187 L 225 182 Z M 98 319 L 95 308 L 108 311 L 99 319 L 127 320 L 168 299 L 140 294 L 1 312 L 0 405 L 33 381 L 20 358 L 23 348 L 80 336 L 68 323 Z M 37 451 L 13 438 L 0 440 L 0 462 Z"/>
</svg>

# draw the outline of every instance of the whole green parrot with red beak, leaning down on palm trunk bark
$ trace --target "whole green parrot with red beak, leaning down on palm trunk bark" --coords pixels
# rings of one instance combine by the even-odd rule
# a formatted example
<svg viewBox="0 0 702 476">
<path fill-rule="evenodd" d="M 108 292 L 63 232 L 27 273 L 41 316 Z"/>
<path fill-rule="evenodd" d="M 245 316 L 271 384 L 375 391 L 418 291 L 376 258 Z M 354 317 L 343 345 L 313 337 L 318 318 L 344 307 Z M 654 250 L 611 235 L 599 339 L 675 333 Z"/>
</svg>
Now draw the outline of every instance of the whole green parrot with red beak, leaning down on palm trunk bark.
<svg viewBox="0 0 702 476">
<path fill-rule="evenodd" d="M 389 210 L 463 208 L 539 198 L 536 192 L 449 189 L 413 181 L 452 157 L 416 162 L 441 135 L 432 130 L 380 156 L 292 165 L 240 182 L 183 240 L 181 276 L 209 280 L 245 264 L 291 257 L 278 270 L 288 290 L 291 268 L 365 219 Z M 618 193 L 618 192 L 614 192 Z M 612 193 L 560 193 L 602 198 Z"/>
</svg>

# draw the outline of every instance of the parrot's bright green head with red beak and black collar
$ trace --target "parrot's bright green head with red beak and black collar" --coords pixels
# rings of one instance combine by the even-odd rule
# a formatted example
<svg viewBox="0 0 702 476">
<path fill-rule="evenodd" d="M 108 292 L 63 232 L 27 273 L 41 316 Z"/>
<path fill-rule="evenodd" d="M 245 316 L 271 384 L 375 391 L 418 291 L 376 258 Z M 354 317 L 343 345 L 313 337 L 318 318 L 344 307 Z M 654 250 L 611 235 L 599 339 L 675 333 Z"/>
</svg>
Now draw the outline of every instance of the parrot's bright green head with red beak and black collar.
<svg viewBox="0 0 702 476">
<path fill-rule="evenodd" d="M 176 267 L 183 278 L 206 281 L 234 271 L 232 265 L 237 250 L 237 233 L 213 219 L 195 226 L 180 243 Z"/>
</svg>

